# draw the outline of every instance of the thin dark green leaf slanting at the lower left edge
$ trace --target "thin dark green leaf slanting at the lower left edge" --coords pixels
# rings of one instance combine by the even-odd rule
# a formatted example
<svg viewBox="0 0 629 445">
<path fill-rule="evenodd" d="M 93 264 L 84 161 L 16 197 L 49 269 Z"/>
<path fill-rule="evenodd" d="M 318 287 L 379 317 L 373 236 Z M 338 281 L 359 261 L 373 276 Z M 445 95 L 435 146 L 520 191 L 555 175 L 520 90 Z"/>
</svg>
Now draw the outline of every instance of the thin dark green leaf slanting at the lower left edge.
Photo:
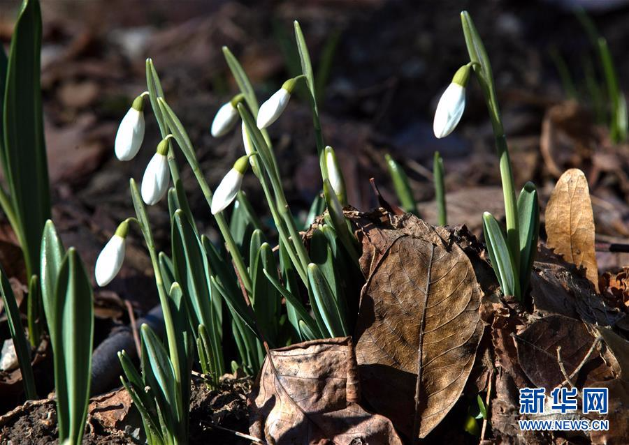
<svg viewBox="0 0 629 445">
<path fill-rule="evenodd" d="M 10 282 L 1 264 L 0 294 L 2 294 L 4 312 L 6 313 L 6 320 L 11 333 L 11 338 L 13 338 L 13 347 L 15 347 L 17 361 L 20 363 L 24 393 L 26 394 L 27 400 L 35 400 L 37 398 L 37 393 L 35 389 L 35 379 L 33 377 L 33 368 L 31 366 L 31 347 L 29 346 L 26 335 L 24 335 L 24 326 L 22 326 L 20 309 L 17 308 L 13 289 L 11 289 Z"/>
</svg>

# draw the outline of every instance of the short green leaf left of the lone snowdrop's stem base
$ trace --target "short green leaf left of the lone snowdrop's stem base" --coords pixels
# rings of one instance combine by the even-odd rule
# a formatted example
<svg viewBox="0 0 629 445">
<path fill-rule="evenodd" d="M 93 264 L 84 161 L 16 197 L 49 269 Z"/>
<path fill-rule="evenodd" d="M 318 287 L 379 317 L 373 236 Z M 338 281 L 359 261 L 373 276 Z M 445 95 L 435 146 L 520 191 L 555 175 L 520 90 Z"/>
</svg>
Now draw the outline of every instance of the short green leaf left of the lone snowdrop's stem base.
<svg viewBox="0 0 629 445">
<path fill-rule="evenodd" d="M 520 299 L 519 274 L 515 270 L 511 253 L 507 248 L 503 229 L 500 228 L 496 218 L 487 212 L 483 215 L 483 228 L 491 266 L 500 282 L 503 294 L 513 295 L 516 299 Z"/>
</svg>

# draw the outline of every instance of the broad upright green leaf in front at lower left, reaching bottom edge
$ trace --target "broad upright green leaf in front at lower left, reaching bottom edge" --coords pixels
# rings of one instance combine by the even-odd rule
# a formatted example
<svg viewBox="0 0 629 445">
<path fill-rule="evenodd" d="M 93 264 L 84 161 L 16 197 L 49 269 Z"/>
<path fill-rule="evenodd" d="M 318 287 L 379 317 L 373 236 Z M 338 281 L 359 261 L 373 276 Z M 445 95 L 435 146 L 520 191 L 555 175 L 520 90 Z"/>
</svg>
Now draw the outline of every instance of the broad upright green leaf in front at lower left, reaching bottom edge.
<svg viewBox="0 0 629 445">
<path fill-rule="evenodd" d="M 62 389 L 59 389 L 59 381 L 55 382 L 57 407 L 64 413 L 59 417 L 59 440 L 70 439 L 71 443 L 80 444 L 92 377 L 94 303 L 92 285 L 74 248 L 68 249 L 59 269 L 55 300 L 57 338 L 60 339 L 57 345 L 61 345 L 61 350 L 53 353 L 57 369 L 62 371 L 58 376 L 64 380 Z"/>
</svg>

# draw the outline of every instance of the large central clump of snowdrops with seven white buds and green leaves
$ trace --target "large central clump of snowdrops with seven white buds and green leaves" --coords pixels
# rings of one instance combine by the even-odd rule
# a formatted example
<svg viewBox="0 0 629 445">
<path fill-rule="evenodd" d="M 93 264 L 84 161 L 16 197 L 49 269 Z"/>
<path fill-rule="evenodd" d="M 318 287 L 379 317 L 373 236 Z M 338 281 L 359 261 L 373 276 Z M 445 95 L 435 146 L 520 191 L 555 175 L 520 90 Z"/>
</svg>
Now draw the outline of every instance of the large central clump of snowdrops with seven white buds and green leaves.
<svg viewBox="0 0 629 445">
<path fill-rule="evenodd" d="M 310 56 L 299 24 L 295 36 L 303 73 L 284 82 L 260 107 L 243 68 L 224 48 L 226 62 L 240 92 L 224 104 L 211 132 L 221 137 L 237 125 L 243 134 L 243 156 L 236 160 L 214 192 L 205 179 L 180 119 L 166 102 L 157 71 L 146 63 L 147 91 L 140 94 L 126 114 L 116 137 L 120 160 L 136 156 L 144 137 L 144 100 L 148 98 L 161 131 L 161 142 L 147 165 L 140 189 L 131 179 L 136 215 L 120 223 L 96 262 L 95 277 L 107 285 L 122 267 L 126 236 L 131 225 L 143 234 L 152 259 L 157 292 L 166 324 L 165 344 L 141 326 L 141 372 L 120 352 L 122 383 L 140 409 L 150 444 L 187 442 L 191 368 L 203 371 L 208 385 L 217 384 L 225 372 L 224 326 L 231 324 L 241 368 L 257 372 L 269 347 L 289 342 L 349 335 L 352 314 L 347 292 L 358 289 L 361 272 L 359 248 L 345 219 L 345 181 L 334 150 L 324 146 L 315 98 Z M 323 199 L 317 197 L 310 216 L 298 224 L 282 188 L 280 169 L 266 128 L 280 117 L 298 86 L 312 105 L 317 152 L 323 180 Z M 179 149 L 187 161 L 221 234 L 215 245 L 195 224 L 182 188 Z M 240 190 L 251 167 L 266 197 L 277 230 L 277 255 L 261 230 L 261 222 Z M 173 186 L 168 188 L 172 181 Z M 157 252 L 146 206 L 166 197 L 171 217 L 171 255 Z M 226 209 L 233 204 L 231 218 Z M 324 218 L 311 231 L 307 249 L 302 232 L 327 207 Z M 303 303 L 308 296 L 310 308 Z M 286 302 L 282 304 L 282 299 Z M 223 306 L 229 311 L 224 313 Z"/>
</svg>

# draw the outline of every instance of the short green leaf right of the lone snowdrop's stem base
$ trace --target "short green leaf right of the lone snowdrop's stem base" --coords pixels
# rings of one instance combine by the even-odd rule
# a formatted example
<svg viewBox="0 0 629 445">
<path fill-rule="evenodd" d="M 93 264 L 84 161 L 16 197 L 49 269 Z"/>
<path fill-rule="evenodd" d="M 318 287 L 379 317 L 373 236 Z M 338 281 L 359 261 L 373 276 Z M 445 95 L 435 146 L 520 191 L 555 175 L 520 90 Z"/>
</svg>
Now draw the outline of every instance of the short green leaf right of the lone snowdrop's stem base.
<svg viewBox="0 0 629 445">
<path fill-rule="evenodd" d="M 535 184 L 527 182 L 518 197 L 520 231 L 520 291 L 528 288 L 530 270 L 537 254 L 537 238 L 540 234 L 540 204 L 537 203 Z"/>
</svg>

